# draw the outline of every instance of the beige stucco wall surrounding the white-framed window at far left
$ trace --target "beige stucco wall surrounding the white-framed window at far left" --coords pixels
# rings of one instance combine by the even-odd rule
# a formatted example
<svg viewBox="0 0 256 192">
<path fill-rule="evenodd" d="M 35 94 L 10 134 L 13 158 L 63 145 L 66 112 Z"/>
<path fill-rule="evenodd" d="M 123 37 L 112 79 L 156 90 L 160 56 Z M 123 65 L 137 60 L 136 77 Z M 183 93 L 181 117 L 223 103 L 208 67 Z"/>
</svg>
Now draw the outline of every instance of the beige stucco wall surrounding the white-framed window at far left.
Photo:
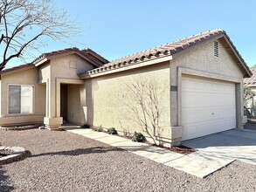
<svg viewBox="0 0 256 192">
<path fill-rule="evenodd" d="M 8 85 L 34 86 L 34 113 L 8 114 Z M 24 71 L 2 74 L 1 77 L 1 118 L 0 125 L 43 122 L 45 117 L 45 86 L 38 85 L 36 67 Z"/>
</svg>

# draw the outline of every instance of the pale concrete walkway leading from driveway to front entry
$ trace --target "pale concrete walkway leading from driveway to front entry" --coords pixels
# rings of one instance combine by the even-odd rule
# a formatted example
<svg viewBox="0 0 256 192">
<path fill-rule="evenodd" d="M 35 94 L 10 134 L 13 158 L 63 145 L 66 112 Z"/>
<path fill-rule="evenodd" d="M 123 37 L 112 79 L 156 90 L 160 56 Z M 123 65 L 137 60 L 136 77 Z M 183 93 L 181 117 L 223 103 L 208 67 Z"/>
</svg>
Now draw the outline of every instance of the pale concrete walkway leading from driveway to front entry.
<svg viewBox="0 0 256 192">
<path fill-rule="evenodd" d="M 222 157 L 218 157 L 218 155 L 204 155 L 200 151 L 188 155 L 178 154 L 161 147 L 153 147 L 145 143 L 133 142 L 126 138 L 102 132 L 95 132 L 91 129 L 82 129 L 79 127 L 63 128 L 73 134 L 80 134 L 114 147 L 121 147 L 133 154 L 163 163 L 171 168 L 176 168 L 190 175 L 196 175 L 201 178 L 210 175 L 219 168 L 223 168 L 234 161 L 233 159 L 223 159 Z"/>
</svg>

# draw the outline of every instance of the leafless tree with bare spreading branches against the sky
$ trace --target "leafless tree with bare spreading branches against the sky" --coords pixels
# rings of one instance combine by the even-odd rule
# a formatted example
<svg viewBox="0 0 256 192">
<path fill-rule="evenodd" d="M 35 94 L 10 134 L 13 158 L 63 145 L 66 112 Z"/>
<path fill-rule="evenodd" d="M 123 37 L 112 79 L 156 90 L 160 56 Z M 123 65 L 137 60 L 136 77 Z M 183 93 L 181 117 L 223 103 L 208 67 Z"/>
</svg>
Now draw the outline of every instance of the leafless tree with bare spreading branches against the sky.
<svg viewBox="0 0 256 192">
<path fill-rule="evenodd" d="M 73 37 L 77 26 L 51 0 L 0 0 L 0 72 L 10 59 L 45 45 L 46 37 Z"/>
</svg>

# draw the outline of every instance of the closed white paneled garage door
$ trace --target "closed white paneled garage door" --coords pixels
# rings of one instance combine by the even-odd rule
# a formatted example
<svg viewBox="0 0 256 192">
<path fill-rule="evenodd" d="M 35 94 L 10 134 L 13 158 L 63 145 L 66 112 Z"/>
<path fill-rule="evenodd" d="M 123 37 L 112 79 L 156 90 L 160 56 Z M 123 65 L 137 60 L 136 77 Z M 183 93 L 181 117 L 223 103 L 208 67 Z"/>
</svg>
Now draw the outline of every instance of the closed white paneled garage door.
<svg viewBox="0 0 256 192">
<path fill-rule="evenodd" d="M 236 127 L 235 85 L 183 77 L 183 141 Z"/>
</svg>

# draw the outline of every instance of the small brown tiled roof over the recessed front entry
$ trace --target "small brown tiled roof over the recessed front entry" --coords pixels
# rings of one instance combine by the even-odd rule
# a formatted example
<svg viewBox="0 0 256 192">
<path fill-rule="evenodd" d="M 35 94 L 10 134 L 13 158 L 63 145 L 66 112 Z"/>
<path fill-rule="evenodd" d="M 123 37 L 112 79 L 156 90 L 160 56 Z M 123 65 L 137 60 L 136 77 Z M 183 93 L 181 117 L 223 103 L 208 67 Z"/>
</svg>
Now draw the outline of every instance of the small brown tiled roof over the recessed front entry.
<svg viewBox="0 0 256 192">
<path fill-rule="evenodd" d="M 78 54 L 81 58 L 84 58 L 86 61 L 93 64 L 95 67 L 99 67 L 100 65 L 104 65 L 109 62 L 106 58 L 101 57 L 98 53 L 91 49 L 80 50 L 76 47 L 72 47 L 59 51 L 45 52 L 38 58 L 33 60 L 32 63 L 34 65 L 41 65 L 42 63 L 45 63 L 45 61 L 50 60 L 52 58 L 65 56 L 73 53 Z"/>
</svg>

